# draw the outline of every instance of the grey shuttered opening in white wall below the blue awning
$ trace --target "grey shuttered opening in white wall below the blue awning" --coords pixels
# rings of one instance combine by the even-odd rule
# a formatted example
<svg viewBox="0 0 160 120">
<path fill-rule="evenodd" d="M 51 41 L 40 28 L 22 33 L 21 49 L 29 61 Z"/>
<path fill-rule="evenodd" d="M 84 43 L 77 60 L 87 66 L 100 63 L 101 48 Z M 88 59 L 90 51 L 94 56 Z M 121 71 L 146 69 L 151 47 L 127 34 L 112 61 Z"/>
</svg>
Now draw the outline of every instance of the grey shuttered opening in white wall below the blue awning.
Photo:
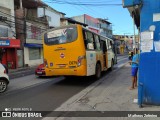
<svg viewBox="0 0 160 120">
<path fill-rule="evenodd" d="M 41 59 L 41 48 L 29 48 L 29 60 Z"/>
</svg>

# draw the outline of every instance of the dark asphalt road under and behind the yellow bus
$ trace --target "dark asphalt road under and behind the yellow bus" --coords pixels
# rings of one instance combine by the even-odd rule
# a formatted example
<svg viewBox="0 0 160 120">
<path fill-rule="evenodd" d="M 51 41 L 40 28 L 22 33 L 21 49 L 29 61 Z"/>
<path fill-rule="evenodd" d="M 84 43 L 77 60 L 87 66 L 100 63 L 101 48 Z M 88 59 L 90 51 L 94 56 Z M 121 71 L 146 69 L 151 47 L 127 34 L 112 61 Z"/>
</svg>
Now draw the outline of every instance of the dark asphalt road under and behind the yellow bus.
<svg viewBox="0 0 160 120">
<path fill-rule="evenodd" d="M 127 61 L 122 57 L 114 69 Z M 106 72 L 104 75 L 107 75 Z M 19 79 L 39 79 L 34 75 L 21 77 Z M 45 78 L 43 78 L 45 80 Z M 55 78 L 47 78 L 55 79 Z M 43 84 L 28 87 L 26 89 L 18 89 L 8 94 L 0 95 L 0 111 L 5 108 L 22 109 L 28 108 L 32 111 L 53 111 L 63 102 L 73 95 L 79 93 L 96 80 L 93 77 L 72 78 L 72 79 L 55 79 Z"/>
</svg>

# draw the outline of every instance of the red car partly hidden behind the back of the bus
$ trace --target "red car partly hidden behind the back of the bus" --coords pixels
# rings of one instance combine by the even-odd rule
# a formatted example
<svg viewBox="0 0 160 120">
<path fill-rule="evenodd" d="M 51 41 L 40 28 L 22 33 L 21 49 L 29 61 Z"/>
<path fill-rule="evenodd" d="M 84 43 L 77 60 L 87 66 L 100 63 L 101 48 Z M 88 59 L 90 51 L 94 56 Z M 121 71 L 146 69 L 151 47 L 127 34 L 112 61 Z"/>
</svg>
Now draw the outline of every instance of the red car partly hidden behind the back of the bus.
<svg viewBox="0 0 160 120">
<path fill-rule="evenodd" d="M 35 70 L 35 75 L 37 75 L 38 77 L 46 76 L 44 64 L 40 64 L 40 65 L 36 68 L 36 70 Z"/>
</svg>

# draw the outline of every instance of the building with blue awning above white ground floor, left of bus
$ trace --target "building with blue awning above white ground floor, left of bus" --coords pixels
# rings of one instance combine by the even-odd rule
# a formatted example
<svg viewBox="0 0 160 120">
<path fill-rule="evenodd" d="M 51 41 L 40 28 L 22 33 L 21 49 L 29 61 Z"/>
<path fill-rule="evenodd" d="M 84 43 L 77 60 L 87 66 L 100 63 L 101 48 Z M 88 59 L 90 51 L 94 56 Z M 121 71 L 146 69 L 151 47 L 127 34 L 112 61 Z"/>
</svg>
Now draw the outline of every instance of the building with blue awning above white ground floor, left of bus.
<svg viewBox="0 0 160 120">
<path fill-rule="evenodd" d="M 45 6 L 41 1 L 15 0 L 16 34 L 21 40 L 21 64 L 38 65 L 43 62 L 42 33 L 48 29 L 45 17 L 38 18 L 37 8 Z"/>
</svg>

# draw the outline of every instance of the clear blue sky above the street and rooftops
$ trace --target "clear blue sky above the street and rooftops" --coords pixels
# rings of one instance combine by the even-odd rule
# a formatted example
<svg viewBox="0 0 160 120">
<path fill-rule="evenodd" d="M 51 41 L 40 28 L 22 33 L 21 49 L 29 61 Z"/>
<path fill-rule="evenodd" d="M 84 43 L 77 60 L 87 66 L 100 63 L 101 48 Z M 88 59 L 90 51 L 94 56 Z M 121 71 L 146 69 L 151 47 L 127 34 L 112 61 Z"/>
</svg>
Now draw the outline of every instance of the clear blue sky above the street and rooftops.
<svg viewBox="0 0 160 120">
<path fill-rule="evenodd" d="M 133 35 L 133 19 L 122 0 L 42 0 L 65 17 L 87 14 L 94 18 L 108 19 L 114 35 Z M 109 4 L 109 5 L 108 5 Z M 112 4 L 112 5 L 110 5 Z M 117 5 L 118 4 L 118 5 Z M 136 34 L 137 34 L 137 28 Z"/>
</svg>

